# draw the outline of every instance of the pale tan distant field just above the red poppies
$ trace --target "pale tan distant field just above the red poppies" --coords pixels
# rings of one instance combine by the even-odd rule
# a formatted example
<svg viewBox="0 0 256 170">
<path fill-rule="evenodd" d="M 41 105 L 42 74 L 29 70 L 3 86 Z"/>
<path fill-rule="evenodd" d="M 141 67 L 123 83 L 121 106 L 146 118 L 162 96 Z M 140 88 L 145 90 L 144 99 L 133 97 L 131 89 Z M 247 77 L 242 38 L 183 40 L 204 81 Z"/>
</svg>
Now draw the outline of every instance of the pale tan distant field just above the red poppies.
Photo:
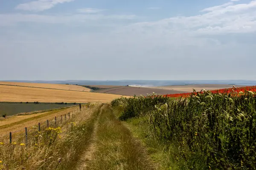
<svg viewBox="0 0 256 170">
<path fill-rule="evenodd" d="M 174 90 L 174 91 L 185 91 L 190 93 L 195 89 L 196 91 L 201 91 L 202 89 L 206 90 L 218 90 L 223 88 L 232 88 L 233 85 L 171 85 L 171 86 L 159 86 L 151 87 L 155 89 L 165 89 L 165 90 Z M 243 87 L 242 85 L 236 85 L 236 87 Z"/>
</svg>

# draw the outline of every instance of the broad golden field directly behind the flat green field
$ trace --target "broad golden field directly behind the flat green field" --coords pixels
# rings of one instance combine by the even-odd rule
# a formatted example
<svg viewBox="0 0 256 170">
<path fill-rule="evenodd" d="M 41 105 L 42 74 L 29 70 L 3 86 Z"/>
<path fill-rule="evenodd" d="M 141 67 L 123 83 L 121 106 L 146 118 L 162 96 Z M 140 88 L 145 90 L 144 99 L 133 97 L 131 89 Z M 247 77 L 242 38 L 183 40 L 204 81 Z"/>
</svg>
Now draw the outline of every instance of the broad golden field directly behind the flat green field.
<svg viewBox="0 0 256 170">
<path fill-rule="evenodd" d="M 0 102 L 110 102 L 118 97 L 120 95 L 0 85 Z"/>
</svg>

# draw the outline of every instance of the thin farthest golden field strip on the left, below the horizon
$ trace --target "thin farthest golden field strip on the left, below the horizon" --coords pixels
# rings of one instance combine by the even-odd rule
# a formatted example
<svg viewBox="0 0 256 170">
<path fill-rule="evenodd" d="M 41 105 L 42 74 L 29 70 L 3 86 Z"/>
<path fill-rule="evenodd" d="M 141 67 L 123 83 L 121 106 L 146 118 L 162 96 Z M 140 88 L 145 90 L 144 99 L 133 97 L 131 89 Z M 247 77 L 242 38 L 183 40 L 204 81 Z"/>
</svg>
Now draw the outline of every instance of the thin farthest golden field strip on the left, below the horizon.
<svg viewBox="0 0 256 170">
<path fill-rule="evenodd" d="M 30 82 L 0 82 L 0 84 L 36 87 L 36 88 L 53 88 L 53 89 L 72 90 L 72 91 L 90 91 L 89 88 L 85 88 L 80 85 L 60 85 L 60 84 L 47 84 L 47 83 L 30 83 Z"/>
</svg>

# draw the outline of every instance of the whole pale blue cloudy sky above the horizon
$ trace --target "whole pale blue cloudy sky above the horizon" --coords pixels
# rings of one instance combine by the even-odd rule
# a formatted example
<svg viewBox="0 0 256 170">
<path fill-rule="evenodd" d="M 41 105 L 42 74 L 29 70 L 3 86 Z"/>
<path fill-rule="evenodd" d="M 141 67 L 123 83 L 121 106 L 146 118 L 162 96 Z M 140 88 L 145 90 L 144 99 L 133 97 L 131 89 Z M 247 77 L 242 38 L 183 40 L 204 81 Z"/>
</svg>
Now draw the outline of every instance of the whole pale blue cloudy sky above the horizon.
<svg viewBox="0 0 256 170">
<path fill-rule="evenodd" d="M 0 0 L 0 80 L 256 80 L 256 0 Z"/>
</svg>

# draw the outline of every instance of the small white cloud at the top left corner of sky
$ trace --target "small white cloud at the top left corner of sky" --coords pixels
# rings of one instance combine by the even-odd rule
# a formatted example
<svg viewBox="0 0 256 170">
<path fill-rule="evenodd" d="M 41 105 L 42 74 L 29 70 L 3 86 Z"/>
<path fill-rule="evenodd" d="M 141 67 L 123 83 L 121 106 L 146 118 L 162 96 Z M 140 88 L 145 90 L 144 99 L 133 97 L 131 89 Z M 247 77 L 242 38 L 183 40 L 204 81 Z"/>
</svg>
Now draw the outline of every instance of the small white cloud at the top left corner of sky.
<svg viewBox="0 0 256 170">
<path fill-rule="evenodd" d="M 44 11 L 53 8 L 58 3 L 68 3 L 74 0 L 37 0 L 29 3 L 22 3 L 16 6 L 15 9 L 24 11 Z"/>
</svg>

